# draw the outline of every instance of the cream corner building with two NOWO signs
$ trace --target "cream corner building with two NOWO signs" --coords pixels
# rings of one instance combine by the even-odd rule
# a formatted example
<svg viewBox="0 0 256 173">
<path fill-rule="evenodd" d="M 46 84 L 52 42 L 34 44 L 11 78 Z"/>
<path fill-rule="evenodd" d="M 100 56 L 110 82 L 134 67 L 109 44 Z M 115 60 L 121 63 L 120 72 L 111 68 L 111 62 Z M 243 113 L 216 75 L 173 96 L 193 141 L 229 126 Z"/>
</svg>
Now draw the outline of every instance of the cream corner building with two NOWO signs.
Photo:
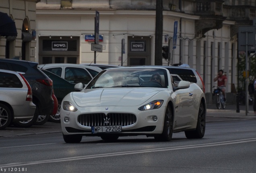
<svg viewBox="0 0 256 173">
<path fill-rule="evenodd" d="M 23 2 L 28 7 L 35 3 Z M 95 53 L 91 44 L 95 43 L 96 11 L 102 52 Z M 154 65 L 155 16 L 156 0 L 40 0 L 36 3 L 36 16 L 29 18 L 37 21 L 29 30 L 36 34 L 25 59 L 39 64 Z M 211 93 L 217 84 L 213 78 L 219 69 L 227 75 L 227 93 L 235 93 L 238 28 L 255 25 L 255 18 L 255 0 L 163 0 L 162 45 L 170 47 L 170 58 L 163 58 L 163 65 L 184 63 L 195 68 L 204 80 L 208 103 L 212 102 Z M 17 30 L 18 38 L 22 29 Z M 15 51 L 13 56 L 18 55 L 19 51 Z M 233 95 L 227 99 L 234 102 Z"/>
</svg>

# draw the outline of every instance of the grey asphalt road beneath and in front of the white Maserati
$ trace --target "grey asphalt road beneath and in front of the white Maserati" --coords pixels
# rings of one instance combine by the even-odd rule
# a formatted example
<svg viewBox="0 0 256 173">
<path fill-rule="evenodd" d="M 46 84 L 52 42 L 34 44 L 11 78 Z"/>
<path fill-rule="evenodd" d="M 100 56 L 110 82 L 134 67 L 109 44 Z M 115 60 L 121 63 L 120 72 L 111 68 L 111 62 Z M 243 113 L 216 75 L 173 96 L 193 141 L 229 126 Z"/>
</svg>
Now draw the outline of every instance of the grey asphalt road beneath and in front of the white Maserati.
<svg viewBox="0 0 256 173">
<path fill-rule="evenodd" d="M 99 137 L 83 137 L 81 143 L 67 144 L 61 133 L 2 137 L 0 171 L 254 173 L 255 124 L 255 119 L 206 123 L 203 139 L 174 133 L 170 142 L 137 136 L 107 143 Z"/>
</svg>

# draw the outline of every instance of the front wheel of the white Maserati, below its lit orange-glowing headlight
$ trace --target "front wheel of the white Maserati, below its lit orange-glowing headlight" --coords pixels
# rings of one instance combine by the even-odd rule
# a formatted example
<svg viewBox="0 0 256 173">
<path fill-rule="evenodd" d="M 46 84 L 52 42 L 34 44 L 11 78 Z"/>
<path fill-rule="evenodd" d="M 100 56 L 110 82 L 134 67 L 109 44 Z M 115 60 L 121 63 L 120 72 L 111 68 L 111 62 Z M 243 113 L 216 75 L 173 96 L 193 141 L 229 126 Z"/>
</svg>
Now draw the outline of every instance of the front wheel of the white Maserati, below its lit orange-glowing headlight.
<svg viewBox="0 0 256 173">
<path fill-rule="evenodd" d="M 171 141 L 173 133 L 173 113 L 171 110 L 171 106 L 167 105 L 165 111 L 165 120 L 163 124 L 163 133 L 161 135 L 156 135 L 156 141 Z"/>
</svg>

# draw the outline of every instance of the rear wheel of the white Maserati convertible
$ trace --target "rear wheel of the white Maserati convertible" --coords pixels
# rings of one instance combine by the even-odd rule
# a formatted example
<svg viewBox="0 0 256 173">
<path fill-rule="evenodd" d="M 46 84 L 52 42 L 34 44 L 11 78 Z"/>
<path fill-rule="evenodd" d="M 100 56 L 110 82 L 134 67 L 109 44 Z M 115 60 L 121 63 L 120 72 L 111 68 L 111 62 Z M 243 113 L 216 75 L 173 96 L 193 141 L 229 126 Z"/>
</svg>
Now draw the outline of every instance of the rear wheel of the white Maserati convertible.
<svg viewBox="0 0 256 173">
<path fill-rule="evenodd" d="M 196 124 L 196 130 L 194 131 L 185 131 L 185 135 L 188 139 L 200 139 L 204 137 L 205 133 L 205 117 L 206 117 L 206 111 L 203 102 L 200 103 L 199 112 L 198 112 L 198 118 L 197 118 L 197 124 Z"/>
</svg>

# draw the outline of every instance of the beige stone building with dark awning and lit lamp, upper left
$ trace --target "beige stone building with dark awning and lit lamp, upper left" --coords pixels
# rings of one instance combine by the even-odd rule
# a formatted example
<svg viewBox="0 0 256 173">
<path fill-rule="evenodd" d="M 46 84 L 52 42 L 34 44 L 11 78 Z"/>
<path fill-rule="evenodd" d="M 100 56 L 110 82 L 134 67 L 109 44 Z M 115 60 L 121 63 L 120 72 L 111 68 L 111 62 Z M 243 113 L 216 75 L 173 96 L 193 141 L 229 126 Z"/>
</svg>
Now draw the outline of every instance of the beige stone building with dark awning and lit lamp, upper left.
<svg viewBox="0 0 256 173">
<path fill-rule="evenodd" d="M 1 23 L 4 30 L 15 30 L 13 33 L 0 33 L 0 58 L 16 58 L 35 61 L 35 28 L 36 3 L 38 0 L 1 0 L 1 22 L 14 21 L 14 26 Z M 15 29 L 14 29 L 15 27 Z M 2 30 L 1 29 L 1 30 Z M 33 36 L 32 36 L 33 33 Z"/>
</svg>

